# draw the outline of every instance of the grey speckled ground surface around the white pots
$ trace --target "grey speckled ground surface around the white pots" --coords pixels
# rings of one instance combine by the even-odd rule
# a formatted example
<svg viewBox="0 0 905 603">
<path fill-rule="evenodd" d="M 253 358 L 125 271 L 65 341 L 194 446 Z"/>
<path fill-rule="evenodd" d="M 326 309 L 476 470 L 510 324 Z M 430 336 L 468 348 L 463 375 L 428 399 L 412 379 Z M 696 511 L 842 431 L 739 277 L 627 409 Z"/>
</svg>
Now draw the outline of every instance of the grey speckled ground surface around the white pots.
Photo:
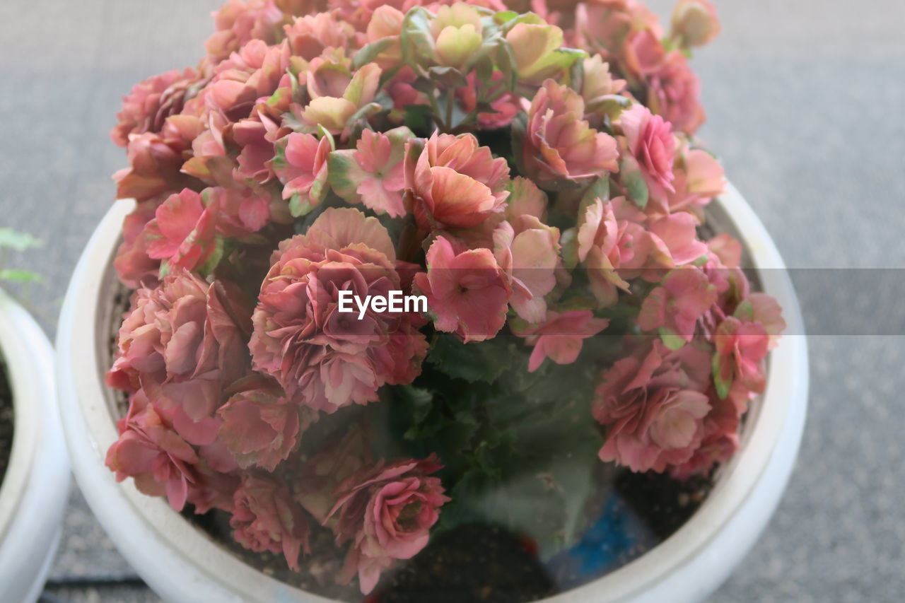
<svg viewBox="0 0 905 603">
<path fill-rule="evenodd" d="M 657 8 L 667 3 L 652 3 Z M 905 593 L 905 3 L 717 0 L 699 53 L 723 158 L 795 268 L 812 396 L 802 453 L 764 537 L 714 601 L 894 601 Z M 0 7 L 0 224 L 47 242 L 27 258 L 52 333 L 68 275 L 125 158 L 107 138 L 119 96 L 192 64 L 217 0 L 5 0 Z M 665 9 L 664 9 L 665 10 Z M 869 317 L 866 318 L 865 317 Z M 846 330 L 853 318 L 856 329 Z M 847 333 L 843 335 L 842 333 Z M 104 579 L 122 579 L 116 587 Z M 73 490 L 47 600 L 157 601 Z"/>
</svg>

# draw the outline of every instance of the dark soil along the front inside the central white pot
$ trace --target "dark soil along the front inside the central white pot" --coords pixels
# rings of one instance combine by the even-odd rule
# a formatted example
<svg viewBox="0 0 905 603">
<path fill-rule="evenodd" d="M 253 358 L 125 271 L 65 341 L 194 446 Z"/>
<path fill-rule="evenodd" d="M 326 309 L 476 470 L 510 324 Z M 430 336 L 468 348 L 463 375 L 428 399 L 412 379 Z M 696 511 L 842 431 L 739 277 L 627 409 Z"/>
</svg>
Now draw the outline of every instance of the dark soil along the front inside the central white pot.
<svg viewBox="0 0 905 603">
<path fill-rule="evenodd" d="M 464 524 L 437 534 L 414 559 L 386 571 L 367 597 L 356 582 L 348 587 L 333 583 L 342 552 L 326 529 L 314 527 L 311 549 L 316 554 L 307 565 L 303 560 L 296 573 L 281 556 L 252 553 L 233 541 L 226 513 L 184 514 L 252 567 L 322 597 L 350 603 L 528 603 L 575 589 L 641 557 L 681 528 L 712 487 L 706 478 L 680 482 L 629 471 L 605 479 L 599 501 L 588 509 L 599 519 L 576 546 L 552 559 L 540 560 L 535 543 L 519 534 Z"/>
</svg>

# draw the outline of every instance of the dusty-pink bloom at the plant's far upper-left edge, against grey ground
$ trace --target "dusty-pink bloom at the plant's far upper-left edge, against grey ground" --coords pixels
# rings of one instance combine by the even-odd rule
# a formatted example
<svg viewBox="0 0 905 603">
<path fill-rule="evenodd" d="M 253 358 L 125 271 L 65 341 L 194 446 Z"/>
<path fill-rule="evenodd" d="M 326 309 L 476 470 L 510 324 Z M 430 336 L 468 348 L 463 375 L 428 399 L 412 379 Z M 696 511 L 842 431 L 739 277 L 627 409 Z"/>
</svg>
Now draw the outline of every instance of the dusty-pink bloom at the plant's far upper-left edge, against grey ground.
<svg viewBox="0 0 905 603">
<path fill-rule="evenodd" d="M 136 84 L 122 98 L 122 110 L 117 113 L 118 123 L 110 132 L 110 139 L 125 147 L 129 134 L 159 132 L 167 117 L 182 110 L 189 88 L 203 83 L 194 69 L 174 69 Z"/>
</svg>

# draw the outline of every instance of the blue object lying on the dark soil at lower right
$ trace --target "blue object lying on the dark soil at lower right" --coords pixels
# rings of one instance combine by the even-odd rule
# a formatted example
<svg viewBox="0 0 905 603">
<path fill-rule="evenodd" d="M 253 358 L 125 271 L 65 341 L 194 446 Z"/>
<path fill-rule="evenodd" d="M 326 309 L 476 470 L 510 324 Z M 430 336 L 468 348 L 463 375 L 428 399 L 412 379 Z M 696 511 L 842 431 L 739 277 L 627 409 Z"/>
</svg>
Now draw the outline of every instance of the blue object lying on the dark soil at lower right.
<svg viewBox="0 0 905 603">
<path fill-rule="evenodd" d="M 641 518 L 613 494 L 581 540 L 554 555 L 547 567 L 560 590 L 574 589 L 617 570 L 658 542 Z"/>
</svg>

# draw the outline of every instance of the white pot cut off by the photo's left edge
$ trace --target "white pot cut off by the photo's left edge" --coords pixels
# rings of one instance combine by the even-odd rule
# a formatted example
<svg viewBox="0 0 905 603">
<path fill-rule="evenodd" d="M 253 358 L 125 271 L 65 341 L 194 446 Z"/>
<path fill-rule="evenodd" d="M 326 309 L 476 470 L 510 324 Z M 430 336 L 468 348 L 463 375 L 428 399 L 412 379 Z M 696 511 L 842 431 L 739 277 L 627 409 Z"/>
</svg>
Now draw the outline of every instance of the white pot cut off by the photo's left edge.
<svg viewBox="0 0 905 603">
<path fill-rule="evenodd" d="M 0 290 L 0 353 L 13 395 L 13 449 L 0 484 L 0 600 L 38 598 L 60 542 L 70 474 L 53 403 L 53 350 Z"/>
</svg>

